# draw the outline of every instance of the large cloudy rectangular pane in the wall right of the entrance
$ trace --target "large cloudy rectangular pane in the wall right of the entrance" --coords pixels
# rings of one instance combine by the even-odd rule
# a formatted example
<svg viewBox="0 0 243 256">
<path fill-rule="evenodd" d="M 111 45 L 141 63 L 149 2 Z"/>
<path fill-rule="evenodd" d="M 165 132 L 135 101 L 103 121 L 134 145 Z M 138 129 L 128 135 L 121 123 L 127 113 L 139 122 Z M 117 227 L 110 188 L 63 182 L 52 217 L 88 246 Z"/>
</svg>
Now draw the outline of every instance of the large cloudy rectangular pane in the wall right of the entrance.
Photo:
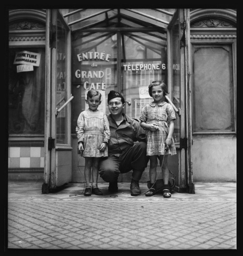
<svg viewBox="0 0 243 256">
<path fill-rule="evenodd" d="M 193 131 L 235 131 L 231 46 L 193 45 L 193 53 Z"/>
</svg>

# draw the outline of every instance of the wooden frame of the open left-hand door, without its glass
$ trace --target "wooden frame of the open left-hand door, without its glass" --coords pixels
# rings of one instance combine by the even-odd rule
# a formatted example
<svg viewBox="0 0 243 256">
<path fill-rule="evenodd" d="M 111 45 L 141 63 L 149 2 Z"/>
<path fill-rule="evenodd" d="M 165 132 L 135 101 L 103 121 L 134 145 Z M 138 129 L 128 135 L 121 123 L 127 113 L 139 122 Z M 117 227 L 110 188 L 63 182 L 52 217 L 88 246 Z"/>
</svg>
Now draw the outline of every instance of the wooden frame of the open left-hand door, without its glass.
<svg viewBox="0 0 243 256">
<path fill-rule="evenodd" d="M 56 117 L 58 110 L 56 106 L 56 88 L 57 88 L 57 25 L 58 19 L 64 25 L 66 29 L 66 56 L 65 56 L 65 71 L 66 71 L 66 84 L 67 90 L 64 103 L 66 108 L 66 119 L 65 119 L 65 134 L 67 136 L 67 143 L 61 144 L 56 142 Z M 70 98 L 71 97 L 71 98 Z M 69 99 L 70 98 L 70 99 Z M 61 157 L 58 154 L 63 152 L 71 152 L 71 104 L 69 102 L 72 99 L 71 95 L 71 30 L 68 24 L 63 19 L 63 16 L 58 9 L 47 9 L 46 10 L 46 108 L 45 108 L 45 143 L 44 143 L 44 183 L 42 185 L 42 193 L 49 193 L 50 190 L 55 189 L 65 183 L 71 181 L 72 177 L 72 164 L 71 168 L 67 168 L 67 176 L 64 180 L 58 182 L 58 167 Z M 68 101 L 68 102 L 67 102 Z M 61 109 L 61 108 L 60 108 Z M 60 110 L 61 111 L 61 110 Z M 59 153 L 60 152 L 60 153 Z M 62 153 L 61 153 L 62 152 Z M 70 157 L 72 163 L 72 155 Z M 66 181 L 66 182 L 65 182 Z"/>
</svg>

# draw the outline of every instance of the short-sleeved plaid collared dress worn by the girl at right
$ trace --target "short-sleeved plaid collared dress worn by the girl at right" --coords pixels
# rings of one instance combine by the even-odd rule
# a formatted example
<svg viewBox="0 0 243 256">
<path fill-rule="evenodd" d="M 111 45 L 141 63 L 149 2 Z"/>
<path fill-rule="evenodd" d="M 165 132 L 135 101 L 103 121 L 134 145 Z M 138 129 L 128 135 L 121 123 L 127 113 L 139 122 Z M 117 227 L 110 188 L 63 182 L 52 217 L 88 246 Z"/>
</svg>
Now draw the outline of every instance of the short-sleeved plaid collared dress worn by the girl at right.
<svg viewBox="0 0 243 256">
<path fill-rule="evenodd" d="M 147 156 L 176 155 L 174 139 L 168 150 L 165 150 L 165 141 L 169 132 L 169 122 L 175 119 L 171 104 L 163 101 L 159 104 L 154 101 L 143 106 L 139 118 L 147 124 L 155 124 L 159 129 L 155 132 L 145 129 L 147 140 Z"/>
</svg>

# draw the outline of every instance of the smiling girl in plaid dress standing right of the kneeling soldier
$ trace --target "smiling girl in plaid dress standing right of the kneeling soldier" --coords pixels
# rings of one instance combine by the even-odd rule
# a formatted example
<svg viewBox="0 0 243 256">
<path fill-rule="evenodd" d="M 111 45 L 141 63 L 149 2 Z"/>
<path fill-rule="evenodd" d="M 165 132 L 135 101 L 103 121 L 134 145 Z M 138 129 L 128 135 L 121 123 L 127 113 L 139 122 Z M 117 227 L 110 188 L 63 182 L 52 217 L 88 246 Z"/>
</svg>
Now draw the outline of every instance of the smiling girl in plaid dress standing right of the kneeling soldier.
<svg viewBox="0 0 243 256">
<path fill-rule="evenodd" d="M 140 116 L 140 125 L 146 131 L 147 156 L 150 158 L 150 182 L 152 187 L 145 196 L 152 196 L 156 192 L 157 157 L 162 169 L 163 196 L 170 197 L 169 169 L 167 167 L 168 154 L 175 155 L 175 145 L 172 138 L 174 131 L 175 113 L 172 106 L 165 101 L 168 94 L 167 86 L 163 81 L 153 81 L 148 86 L 148 93 L 154 101 L 143 106 Z"/>
</svg>

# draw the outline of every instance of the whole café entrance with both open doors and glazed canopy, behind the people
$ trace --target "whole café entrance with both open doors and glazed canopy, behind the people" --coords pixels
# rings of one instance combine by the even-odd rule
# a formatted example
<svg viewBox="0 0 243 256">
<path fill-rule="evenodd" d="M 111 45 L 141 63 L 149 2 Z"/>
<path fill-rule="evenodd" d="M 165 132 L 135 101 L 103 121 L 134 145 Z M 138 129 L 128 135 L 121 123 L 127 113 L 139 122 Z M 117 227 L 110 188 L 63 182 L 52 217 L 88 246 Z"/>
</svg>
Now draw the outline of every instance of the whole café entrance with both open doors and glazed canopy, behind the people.
<svg viewBox="0 0 243 256">
<path fill-rule="evenodd" d="M 145 11 L 146 10 L 146 11 Z M 123 93 L 125 113 L 139 118 L 148 85 L 164 80 L 176 112 L 177 155 L 168 158 L 175 190 L 194 193 L 191 164 L 189 9 L 47 9 L 46 120 L 43 193 L 83 182 L 75 127 L 90 89 L 109 114 L 110 90 Z M 149 163 L 148 163 L 149 164 Z M 158 166 L 159 167 L 159 166 Z M 141 182 L 148 180 L 148 169 Z M 129 182 L 130 174 L 118 182 Z M 98 180 L 99 182 L 99 180 Z M 102 180 L 100 180 L 102 182 Z"/>
</svg>

